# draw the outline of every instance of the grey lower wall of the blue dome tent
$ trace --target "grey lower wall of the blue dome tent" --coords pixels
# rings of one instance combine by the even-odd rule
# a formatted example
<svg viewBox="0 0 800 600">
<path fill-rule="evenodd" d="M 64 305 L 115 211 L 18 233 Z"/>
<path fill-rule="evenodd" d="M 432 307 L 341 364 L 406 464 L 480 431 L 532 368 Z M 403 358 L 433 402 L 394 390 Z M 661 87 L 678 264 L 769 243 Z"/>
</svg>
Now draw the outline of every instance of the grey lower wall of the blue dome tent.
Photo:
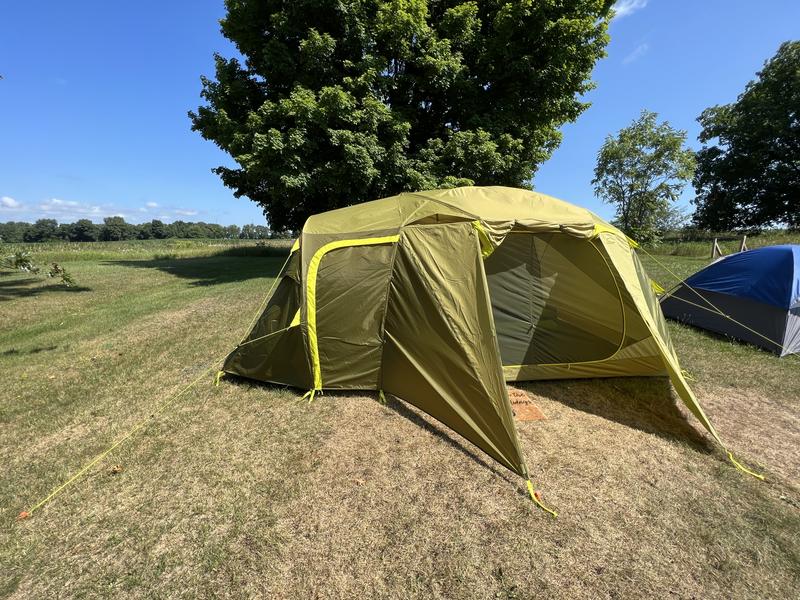
<svg viewBox="0 0 800 600">
<path fill-rule="evenodd" d="M 719 314 L 714 307 L 746 327 Z M 776 354 L 781 353 L 789 313 L 786 309 L 751 298 L 709 292 L 686 285 L 679 286 L 663 298 L 661 310 L 677 321 L 715 331 Z"/>
</svg>

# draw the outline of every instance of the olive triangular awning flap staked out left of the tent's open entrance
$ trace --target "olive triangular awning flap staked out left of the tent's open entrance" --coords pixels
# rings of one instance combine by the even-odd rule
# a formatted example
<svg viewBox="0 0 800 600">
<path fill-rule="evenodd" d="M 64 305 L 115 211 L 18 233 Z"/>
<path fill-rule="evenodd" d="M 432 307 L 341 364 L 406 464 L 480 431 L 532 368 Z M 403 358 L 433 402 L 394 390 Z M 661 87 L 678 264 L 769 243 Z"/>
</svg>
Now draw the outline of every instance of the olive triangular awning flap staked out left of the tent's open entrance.
<svg viewBox="0 0 800 600">
<path fill-rule="evenodd" d="M 403 230 L 385 335 L 382 388 L 525 476 L 479 242 L 469 223 Z"/>
</svg>

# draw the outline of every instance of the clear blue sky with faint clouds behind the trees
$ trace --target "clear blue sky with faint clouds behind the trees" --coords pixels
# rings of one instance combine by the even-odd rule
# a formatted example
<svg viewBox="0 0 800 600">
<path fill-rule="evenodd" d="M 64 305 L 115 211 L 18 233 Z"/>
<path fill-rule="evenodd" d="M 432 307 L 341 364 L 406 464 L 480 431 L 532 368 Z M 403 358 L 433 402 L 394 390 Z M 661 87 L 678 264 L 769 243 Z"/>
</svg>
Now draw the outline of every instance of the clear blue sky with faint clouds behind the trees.
<svg viewBox="0 0 800 600">
<path fill-rule="evenodd" d="M 597 89 L 534 185 L 605 217 L 591 187 L 603 139 L 643 108 L 689 132 L 735 100 L 781 42 L 797 0 L 621 0 Z M 0 8 L 0 222 L 121 214 L 263 223 L 211 168 L 230 158 L 189 128 L 219 33 L 222 0 L 5 2 Z M 684 194 L 684 202 L 691 190 Z"/>
</svg>

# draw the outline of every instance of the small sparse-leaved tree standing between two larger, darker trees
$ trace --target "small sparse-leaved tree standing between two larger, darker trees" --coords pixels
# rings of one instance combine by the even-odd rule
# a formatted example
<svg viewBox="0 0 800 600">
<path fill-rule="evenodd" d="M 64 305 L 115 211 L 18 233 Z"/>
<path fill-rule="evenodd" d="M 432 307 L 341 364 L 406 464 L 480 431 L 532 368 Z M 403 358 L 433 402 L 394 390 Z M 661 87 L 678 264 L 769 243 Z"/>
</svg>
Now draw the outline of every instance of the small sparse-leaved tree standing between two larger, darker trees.
<svg viewBox="0 0 800 600">
<path fill-rule="evenodd" d="M 630 237 L 654 243 L 674 225 L 673 203 L 692 179 L 694 152 L 684 148 L 686 132 L 642 111 L 631 125 L 608 136 L 597 155 L 592 184 L 616 206 L 616 225 Z"/>
</svg>

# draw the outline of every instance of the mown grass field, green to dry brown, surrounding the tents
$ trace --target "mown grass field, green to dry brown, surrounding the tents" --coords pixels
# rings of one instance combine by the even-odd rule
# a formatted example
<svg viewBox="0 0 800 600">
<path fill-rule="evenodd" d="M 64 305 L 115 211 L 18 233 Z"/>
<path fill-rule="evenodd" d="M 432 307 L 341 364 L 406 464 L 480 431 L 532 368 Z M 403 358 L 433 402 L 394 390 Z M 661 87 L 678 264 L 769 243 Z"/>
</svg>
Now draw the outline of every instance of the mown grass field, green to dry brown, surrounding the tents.
<svg viewBox="0 0 800 600">
<path fill-rule="evenodd" d="M 796 596 L 800 361 L 675 324 L 700 401 L 766 482 L 659 379 L 523 386 L 547 417 L 519 431 L 552 519 L 407 404 L 209 375 L 17 521 L 239 341 L 283 246 L 45 245 L 79 287 L 0 276 L 0 596 Z M 707 262 L 663 252 L 680 276 Z"/>
</svg>

